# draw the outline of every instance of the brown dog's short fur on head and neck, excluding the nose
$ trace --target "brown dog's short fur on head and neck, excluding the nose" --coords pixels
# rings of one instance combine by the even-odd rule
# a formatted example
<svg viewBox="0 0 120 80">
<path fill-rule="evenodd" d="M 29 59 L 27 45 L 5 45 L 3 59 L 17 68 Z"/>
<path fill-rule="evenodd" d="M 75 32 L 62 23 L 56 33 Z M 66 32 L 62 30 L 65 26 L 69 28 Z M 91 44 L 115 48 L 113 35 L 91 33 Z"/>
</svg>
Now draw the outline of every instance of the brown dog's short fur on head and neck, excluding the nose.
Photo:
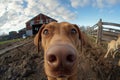
<svg viewBox="0 0 120 80">
<path fill-rule="evenodd" d="M 75 30 L 75 33 L 71 33 L 72 29 Z M 38 51 L 39 44 L 42 45 L 44 50 L 44 69 L 48 80 L 77 80 L 78 55 L 80 53 L 79 51 L 82 49 L 83 43 L 84 38 L 82 37 L 82 33 L 79 27 L 75 24 L 70 24 L 68 22 L 51 22 L 49 24 L 42 25 L 34 38 L 34 44 L 38 47 Z M 51 47 L 58 44 L 70 46 L 71 49 L 75 50 L 75 54 L 77 56 L 75 64 L 70 68 L 71 70 L 70 72 L 68 71 L 69 74 L 66 77 L 57 77 L 62 74 L 57 74 L 57 71 L 52 71 L 52 68 L 49 67 L 46 59 L 47 52 L 49 52 Z"/>
</svg>

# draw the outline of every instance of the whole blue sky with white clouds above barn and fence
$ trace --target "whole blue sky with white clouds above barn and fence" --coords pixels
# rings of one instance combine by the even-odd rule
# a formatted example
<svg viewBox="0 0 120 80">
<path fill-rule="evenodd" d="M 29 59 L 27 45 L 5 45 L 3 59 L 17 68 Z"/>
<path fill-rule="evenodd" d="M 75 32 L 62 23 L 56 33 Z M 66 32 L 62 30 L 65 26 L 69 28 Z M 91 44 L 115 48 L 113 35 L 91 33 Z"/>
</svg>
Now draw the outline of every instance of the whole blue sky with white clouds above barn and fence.
<svg viewBox="0 0 120 80">
<path fill-rule="evenodd" d="M 0 35 L 25 28 L 40 13 L 80 26 L 93 26 L 100 18 L 120 24 L 120 0 L 0 0 Z"/>
</svg>

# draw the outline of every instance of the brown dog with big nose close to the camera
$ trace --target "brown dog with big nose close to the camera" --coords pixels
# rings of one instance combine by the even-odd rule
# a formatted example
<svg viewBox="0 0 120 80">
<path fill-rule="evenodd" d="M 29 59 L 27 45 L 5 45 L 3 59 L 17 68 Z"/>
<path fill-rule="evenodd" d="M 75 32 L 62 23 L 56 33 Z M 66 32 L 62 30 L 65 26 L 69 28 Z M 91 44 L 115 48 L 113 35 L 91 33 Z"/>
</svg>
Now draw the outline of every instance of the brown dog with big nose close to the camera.
<svg viewBox="0 0 120 80">
<path fill-rule="evenodd" d="M 44 50 L 44 68 L 48 80 L 77 80 L 78 55 L 82 34 L 77 25 L 68 22 L 44 24 L 34 38 Z"/>
</svg>

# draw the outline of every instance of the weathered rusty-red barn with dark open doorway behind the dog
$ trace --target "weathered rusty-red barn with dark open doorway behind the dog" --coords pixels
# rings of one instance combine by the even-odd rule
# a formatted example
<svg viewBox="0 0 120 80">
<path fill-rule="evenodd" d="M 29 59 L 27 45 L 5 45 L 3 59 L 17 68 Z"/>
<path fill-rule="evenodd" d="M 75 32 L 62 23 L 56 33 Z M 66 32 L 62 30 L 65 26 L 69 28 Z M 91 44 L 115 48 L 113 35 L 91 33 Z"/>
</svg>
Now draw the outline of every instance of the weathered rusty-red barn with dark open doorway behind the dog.
<svg viewBox="0 0 120 80">
<path fill-rule="evenodd" d="M 35 35 L 43 24 L 47 24 L 53 21 L 57 22 L 57 20 L 47 15 L 44 15 L 42 13 L 38 14 L 37 16 L 26 22 L 26 35 Z"/>
</svg>

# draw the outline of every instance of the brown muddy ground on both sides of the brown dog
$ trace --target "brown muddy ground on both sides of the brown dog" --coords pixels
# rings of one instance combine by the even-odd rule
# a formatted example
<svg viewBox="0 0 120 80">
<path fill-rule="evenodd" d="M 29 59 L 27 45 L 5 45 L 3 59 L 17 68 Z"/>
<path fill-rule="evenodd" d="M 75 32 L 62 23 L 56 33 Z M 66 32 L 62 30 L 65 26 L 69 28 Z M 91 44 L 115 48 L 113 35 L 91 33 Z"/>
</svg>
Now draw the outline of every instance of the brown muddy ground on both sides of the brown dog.
<svg viewBox="0 0 120 80">
<path fill-rule="evenodd" d="M 28 40 L 28 39 L 27 39 Z M 26 40 L 26 41 L 27 41 Z M 15 44 L 21 44 L 22 41 Z M 118 59 L 109 56 L 104 59 L 105 46 L 85 46 L 80 54 L 78 80 L 120 80 Z M 4 49 L 13 45 L 0 45 Z M 33 40 L 24 46 L 13 49 L 0 56 L 0 80 L 47 80 L 43 69 L 43 51 L 37 53 Z"/>
</svg>

